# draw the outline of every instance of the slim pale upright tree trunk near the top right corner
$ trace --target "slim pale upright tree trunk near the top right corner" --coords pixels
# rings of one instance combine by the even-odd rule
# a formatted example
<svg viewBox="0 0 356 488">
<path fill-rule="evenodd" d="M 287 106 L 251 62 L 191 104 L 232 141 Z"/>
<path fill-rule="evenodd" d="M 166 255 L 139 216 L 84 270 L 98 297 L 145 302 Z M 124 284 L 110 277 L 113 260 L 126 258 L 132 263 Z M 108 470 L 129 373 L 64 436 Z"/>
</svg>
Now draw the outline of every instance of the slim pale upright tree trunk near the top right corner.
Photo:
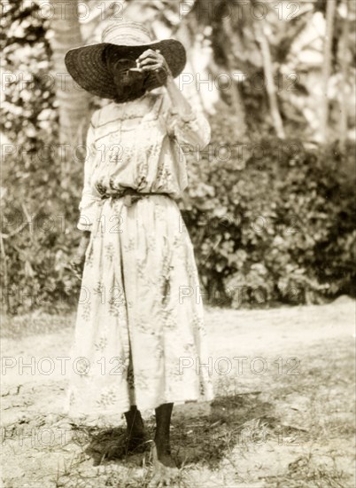
<svg viewBox="0 0 356 488">
<path fill-rule="evenodd" d="M 328 0 L 326 13 L 326 33 L 324 43 L 324 63 L 322 67 L 322 84 L 323 97 L 321 100 L 321 142 L 326 143 L 328 140 L 328 122 L 329 122 L 329 77 L 331 73 L 332 62 L 332 40 L 334 34 L 334 18 L 337 8 L 336 0 Z"/>
</svg>

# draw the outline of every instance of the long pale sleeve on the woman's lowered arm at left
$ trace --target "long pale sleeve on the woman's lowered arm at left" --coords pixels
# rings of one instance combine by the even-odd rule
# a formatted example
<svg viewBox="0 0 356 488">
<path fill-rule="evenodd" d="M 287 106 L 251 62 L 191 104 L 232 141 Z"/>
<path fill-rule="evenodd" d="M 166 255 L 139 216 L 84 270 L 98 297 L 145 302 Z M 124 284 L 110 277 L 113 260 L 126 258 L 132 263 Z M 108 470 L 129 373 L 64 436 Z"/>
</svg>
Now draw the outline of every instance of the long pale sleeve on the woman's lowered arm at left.
<svg viewBox="0 0 356 488">
<path fill-rule="evenodd" d="M 91 174 L 94 168 L 95 159 L 97 157 L 97 150 L 95 146 L 96 121 L 97 112 L 92 115 L 87 132 L 84 185 L 81 193 L 81 202 L 79 204 L 81 216 L 77 224 L 77 228 L 81 231 L 91 231 L 97 213 L 97 203 L 101 200 L 100 194 L 95 191 L 93 185 L 91 184 Z"/>
</svg>

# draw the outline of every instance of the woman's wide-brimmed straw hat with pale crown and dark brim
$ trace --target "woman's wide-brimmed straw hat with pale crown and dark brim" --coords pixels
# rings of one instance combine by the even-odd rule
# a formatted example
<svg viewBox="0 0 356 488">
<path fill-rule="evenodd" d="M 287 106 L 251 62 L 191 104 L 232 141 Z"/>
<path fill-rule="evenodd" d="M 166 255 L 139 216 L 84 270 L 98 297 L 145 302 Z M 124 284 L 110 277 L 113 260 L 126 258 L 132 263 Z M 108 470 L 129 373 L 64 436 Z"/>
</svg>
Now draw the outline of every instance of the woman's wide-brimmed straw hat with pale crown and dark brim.
<svg viewBox="0 0 356 488">
<path fill-rule="evenodd" d="M 117 91 L 108 69 L 104 51 L 112 46 L 122 59 L 137 59 L 147 49 L 159 50 L 174 78 L 182 73 L 187 57 L 182 43 L 175 39 L 152 40 L 150 32 L 138 22 L 115 22 L 104 29 L 102 43 L 77 47 L 66 52 L 68 73 L 84 90 L 101 98 L 117 98 Z M 154 73 L 148 85 L 153 90 L 161 85 Z"/>
</svg>

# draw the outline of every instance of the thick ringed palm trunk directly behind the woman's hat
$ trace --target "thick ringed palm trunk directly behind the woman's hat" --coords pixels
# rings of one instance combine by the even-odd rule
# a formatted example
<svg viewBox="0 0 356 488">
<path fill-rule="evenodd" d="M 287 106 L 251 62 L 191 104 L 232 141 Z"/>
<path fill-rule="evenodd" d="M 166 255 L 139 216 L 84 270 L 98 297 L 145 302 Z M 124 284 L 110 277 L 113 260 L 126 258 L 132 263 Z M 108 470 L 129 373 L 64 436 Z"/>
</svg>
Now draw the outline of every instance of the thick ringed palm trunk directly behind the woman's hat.
<svg viewBox="0 0 356 488">
<path fill-rule="evenodd" d="M 82 45 L 77 0 L 51 0 L 51 5 L 54 36 L 50 45 L 59 110 L 61 167 L 63 175 L 68 176 L 73 158 L 80 156 L 78 151 L 74 153 L 74 147 L 85 141 L 90 95 L 74 83 L 65 65 L 66 51 Z"/>
</svg>

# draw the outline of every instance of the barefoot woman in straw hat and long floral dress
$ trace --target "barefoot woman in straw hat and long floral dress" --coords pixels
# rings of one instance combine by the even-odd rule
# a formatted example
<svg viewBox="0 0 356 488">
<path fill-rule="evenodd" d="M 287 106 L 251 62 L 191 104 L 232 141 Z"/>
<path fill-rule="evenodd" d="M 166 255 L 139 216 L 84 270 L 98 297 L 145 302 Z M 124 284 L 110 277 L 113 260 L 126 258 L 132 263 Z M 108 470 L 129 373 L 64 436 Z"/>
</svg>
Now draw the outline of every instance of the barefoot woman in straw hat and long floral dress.
<svg viewBox="0 0 356 488">
<path fill-rule="evenodd" d="M 155 409 L 154 443 L 168 467 L 174 403 L 213 397 L 197 267 L 175 201 L 187 186 L 180 145 L 210 140 L 174 83 L 185 62 L 181 43 L 152 41 L 135 22 L 66 54 L 77 83 L 113 100 L 88 130 L 68 409 L 110 424 L 125 413 L 128 449 L 145 438 L 140 410 Z"/>
</svg>

